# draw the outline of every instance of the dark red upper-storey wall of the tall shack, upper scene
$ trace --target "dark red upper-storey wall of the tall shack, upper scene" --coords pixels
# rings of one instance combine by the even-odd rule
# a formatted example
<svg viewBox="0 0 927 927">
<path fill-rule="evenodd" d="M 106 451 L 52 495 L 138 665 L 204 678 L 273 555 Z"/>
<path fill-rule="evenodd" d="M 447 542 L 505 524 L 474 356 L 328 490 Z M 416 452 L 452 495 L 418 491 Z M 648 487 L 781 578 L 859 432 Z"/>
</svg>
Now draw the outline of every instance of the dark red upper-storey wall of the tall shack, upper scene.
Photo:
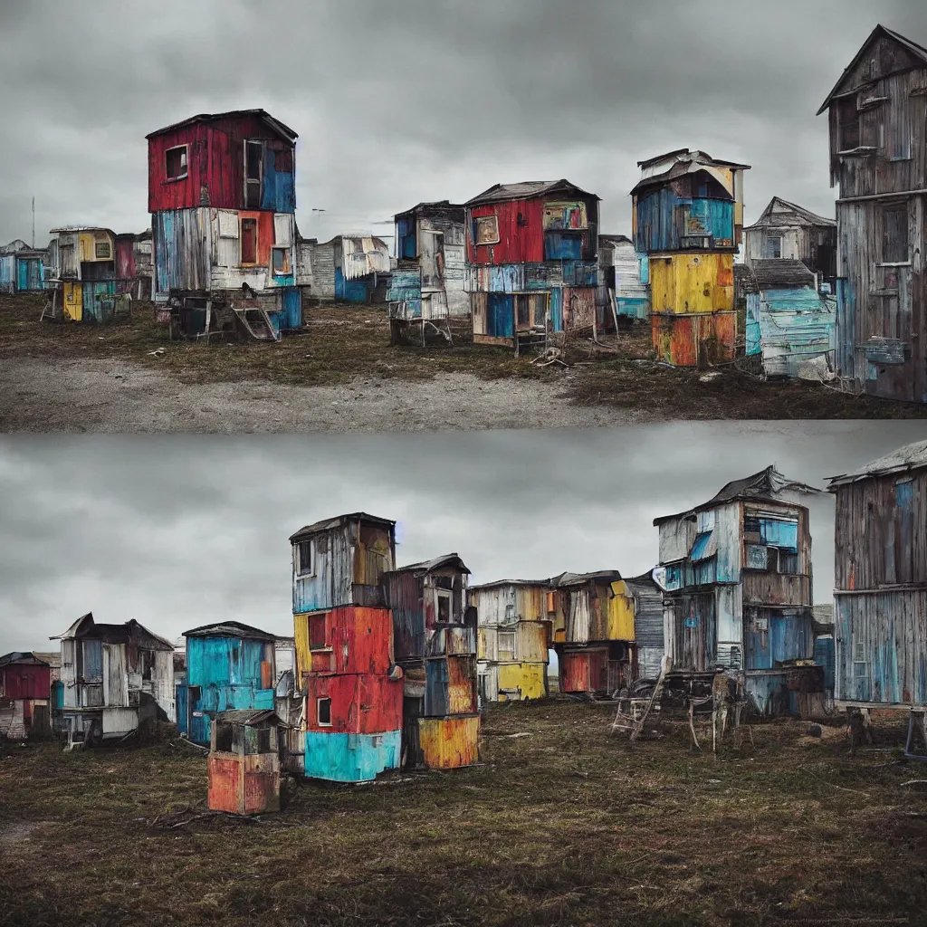
<svg viewBox="0 0 927 927">
<path fill-rule="evenodd" d="M 220 210 L 245 207 L 246 138 L 265 139 L 275 149 L 277 170 L 293 168 L 293 146 L 277 136 L 260 119 L 196 122 L 173 132 L 148 139 L 148 211 L 191 210 L 212 206 Z M 168 148 L 188 145 L 187 176 L 169 181 L 165 163 Z M 201 199 L 201 188 L 209 202 Z"/>
</svg>

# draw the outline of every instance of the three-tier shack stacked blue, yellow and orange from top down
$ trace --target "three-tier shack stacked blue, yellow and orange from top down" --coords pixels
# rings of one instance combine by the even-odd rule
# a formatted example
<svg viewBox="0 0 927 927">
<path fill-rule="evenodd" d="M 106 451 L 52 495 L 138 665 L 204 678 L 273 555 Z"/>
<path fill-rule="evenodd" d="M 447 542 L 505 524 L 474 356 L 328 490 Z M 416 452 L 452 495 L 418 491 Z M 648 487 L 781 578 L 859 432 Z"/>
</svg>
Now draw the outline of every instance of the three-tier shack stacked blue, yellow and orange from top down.
<svg viewBox="0 0 927 927">
<path fill-rule="evenodd" d="M 639 161 L 631 191 L 634 247 L 650 264 L 654 349 L 680 367 L 732 361 L 734 255 L 748 164 L 680 148 Z"/>
</svg>

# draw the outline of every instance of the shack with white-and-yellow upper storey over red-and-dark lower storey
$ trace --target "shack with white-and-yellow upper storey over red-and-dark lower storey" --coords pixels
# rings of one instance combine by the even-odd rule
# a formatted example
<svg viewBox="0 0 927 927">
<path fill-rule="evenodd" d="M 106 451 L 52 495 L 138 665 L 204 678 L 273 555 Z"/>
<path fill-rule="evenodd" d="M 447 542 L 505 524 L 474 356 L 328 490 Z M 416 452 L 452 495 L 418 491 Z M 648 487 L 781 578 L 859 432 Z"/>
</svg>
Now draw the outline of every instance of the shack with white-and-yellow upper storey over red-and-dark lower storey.
<svg viewBox="0 0 927 927">
<path fill-rule="evenodd" d="M 606 692 L 637 678 L 634 602 L 617 570 L 563 573 L 554 592 L 553 649 L 560 692 Z"/>
</svg>

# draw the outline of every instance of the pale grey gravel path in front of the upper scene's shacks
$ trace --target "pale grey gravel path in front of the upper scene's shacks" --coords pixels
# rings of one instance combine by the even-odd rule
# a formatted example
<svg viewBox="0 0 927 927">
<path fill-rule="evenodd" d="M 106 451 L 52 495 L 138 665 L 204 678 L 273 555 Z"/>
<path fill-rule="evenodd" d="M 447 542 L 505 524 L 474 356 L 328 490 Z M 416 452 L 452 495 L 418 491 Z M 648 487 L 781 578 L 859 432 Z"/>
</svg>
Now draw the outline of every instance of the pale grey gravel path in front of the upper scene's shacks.
<svg viewBox="0 0 927 927">
<path fill-rule="evenodd" d="M 0 362 L 0 430 L 28 432 L 311 432 L 594 427 L 638 413 L 578 405 L 569 385 L 441 374 L 355 378 L 332 387 L 257 381 L 187 385 L 132 362 Z"/>
</svg>

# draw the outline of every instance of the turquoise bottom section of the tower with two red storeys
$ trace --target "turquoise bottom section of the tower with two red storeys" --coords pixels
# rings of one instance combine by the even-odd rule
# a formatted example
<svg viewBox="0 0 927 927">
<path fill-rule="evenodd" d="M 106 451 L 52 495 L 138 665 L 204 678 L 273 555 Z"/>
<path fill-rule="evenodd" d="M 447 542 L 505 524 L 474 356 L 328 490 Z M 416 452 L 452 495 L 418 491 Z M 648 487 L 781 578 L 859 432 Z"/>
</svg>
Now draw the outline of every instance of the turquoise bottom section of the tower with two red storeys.
<svg viewBox="0 0 927 927">
<path fill-rule="evenodd" d="M 306 731 L 306 775 L 310 779 L 365 782 L 400 766 L 402 731 L 383 734 Z M 375 742 L 379 745 L 375 746 Z"/>
</svg>

